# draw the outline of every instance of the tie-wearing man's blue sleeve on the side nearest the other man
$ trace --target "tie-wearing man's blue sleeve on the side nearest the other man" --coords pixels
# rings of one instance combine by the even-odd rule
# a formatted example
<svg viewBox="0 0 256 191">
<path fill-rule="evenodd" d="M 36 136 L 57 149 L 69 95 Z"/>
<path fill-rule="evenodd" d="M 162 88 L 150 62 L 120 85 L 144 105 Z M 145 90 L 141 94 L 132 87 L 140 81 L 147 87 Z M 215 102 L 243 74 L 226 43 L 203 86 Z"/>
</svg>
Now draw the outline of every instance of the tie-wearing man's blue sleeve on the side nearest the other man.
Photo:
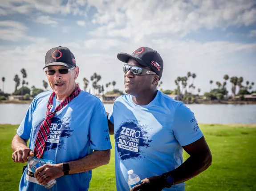
<svg viewBox="0 0 256 191">
<path fill-rule="evenodd" d="M 90 148 L 96 151 L 111 149 L 107 115 L 104 106 L 93 113 L 89 125 Z"/>
</svg>

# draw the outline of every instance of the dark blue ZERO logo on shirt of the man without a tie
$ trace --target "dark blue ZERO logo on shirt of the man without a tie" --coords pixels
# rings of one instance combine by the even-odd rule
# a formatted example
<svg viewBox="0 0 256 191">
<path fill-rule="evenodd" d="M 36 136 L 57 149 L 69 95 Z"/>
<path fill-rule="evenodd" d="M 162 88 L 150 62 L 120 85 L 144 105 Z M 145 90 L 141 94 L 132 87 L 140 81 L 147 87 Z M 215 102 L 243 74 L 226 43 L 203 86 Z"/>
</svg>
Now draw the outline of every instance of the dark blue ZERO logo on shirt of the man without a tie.
<svg viewBox="0 0 256 191">
<path fill-rule="evenodd" d="M 142 148 L 150 147 L 146 127 L 137 121 L 122 123 L 115 133 L 117 151 L 122 160 L 141 157 Z"/>
</svg>

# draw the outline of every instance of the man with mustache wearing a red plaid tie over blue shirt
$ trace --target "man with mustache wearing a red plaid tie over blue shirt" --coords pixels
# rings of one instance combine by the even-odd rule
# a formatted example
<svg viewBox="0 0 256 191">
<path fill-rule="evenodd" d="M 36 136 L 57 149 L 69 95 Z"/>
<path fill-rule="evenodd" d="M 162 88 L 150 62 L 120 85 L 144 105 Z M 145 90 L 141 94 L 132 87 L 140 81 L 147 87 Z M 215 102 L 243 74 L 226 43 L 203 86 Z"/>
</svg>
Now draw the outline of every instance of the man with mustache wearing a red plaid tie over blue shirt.
<svg viewBox="0 0 256 191">
<path fill-rule="evenodd" d="M 76 84 L 79 68 L 68 48 L 50 49 L 44 68 L 53 91 L 33 99 L 12 140 L 12 159 L 24 163 L 28 156 L 34 156 L 48 164 L 34 174 L 27 167 L 19 190 L 44 191 L 43 185 L 56 179 L 52 187 L 55 191 L 86 191 L 91 170 L 110 161 L 105 108 L 97 97 Z"/>
</svg>

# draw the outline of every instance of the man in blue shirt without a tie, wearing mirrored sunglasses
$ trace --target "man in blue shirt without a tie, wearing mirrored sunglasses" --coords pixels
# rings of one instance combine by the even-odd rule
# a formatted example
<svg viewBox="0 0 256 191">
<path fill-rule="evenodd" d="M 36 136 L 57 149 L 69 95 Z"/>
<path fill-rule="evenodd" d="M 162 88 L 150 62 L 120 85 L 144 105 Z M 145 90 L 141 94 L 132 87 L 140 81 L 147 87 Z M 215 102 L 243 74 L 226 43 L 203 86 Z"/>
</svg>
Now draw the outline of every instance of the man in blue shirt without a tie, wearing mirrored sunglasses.
<svg viewBox="0 0 256 191">
<path fill-rule="evenodd" d="M 132 191 L 184 191 L 184 181 L 211 165 L 211 151 L 195 116 L 183 102 L 157 90 L 163 73 L 157 51 L 141 47 L 117 57 L 126 63 L 127 93 L 116 99 L 109 114 L 117 190 L 130 190 L 127 171 L 133 170 L 142 183 L 132 185 Z M 190 155 L 184 163 L 183 149 Z"/>
</svg>

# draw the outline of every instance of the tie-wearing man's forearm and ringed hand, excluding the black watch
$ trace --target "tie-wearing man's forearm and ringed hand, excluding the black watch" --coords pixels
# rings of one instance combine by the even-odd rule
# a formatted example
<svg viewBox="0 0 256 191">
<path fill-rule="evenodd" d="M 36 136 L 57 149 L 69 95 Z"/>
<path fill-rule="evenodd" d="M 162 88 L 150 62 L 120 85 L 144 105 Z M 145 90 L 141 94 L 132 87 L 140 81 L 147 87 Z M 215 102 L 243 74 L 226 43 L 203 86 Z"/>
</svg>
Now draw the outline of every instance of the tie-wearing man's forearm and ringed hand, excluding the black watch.
<svg viewBox="0 0 256 191">
<path fill-rule="evenodd" d="M 69 161 L 69 174 L 90 171 L 102 165 L 106 165 L 109 162 L 110 149 L 104 151 L 94 151 L 93 153 L 85 156 L 84 158 Z M 42 167 L 37 168 L 35 177 L 37 178 L 38 183 L 45 185 L 52 179 L 57 179 L 63 176 L 64 172 L 62 171 L 62 165 L 63 163 L 45 164 Z M 46 180 L 43 175 L 46 175 Z"/>
</svg>

